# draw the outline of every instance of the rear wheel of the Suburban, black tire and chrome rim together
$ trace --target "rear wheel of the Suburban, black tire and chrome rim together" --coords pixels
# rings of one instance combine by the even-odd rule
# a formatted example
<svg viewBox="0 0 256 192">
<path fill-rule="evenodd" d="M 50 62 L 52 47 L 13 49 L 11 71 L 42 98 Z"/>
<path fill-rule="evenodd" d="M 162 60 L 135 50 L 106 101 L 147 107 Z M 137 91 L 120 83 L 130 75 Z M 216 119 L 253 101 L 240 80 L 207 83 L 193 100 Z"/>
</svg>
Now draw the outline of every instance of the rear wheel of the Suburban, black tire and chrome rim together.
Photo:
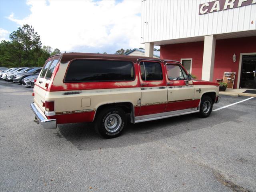
<svg viewBox="0 0 256 192">
<path fill-rule="evenodd" d="M 121 108 L 104 108 L 96 115 L 94 126 L 102 137 L 114 138 L 120 136 L 126 122 L 125 112 Z"/>
</svg>

